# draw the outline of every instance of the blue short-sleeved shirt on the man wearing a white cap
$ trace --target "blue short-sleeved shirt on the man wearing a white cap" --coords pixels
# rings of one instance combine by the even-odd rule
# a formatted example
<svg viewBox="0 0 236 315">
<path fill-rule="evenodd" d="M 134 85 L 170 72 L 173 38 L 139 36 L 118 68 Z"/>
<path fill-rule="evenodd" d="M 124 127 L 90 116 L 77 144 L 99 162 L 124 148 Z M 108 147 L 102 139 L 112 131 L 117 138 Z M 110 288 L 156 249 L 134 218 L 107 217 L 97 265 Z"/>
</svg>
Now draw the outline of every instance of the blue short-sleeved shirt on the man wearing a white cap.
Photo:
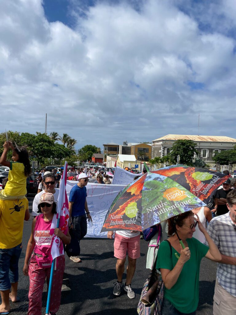
<svg viewBox="0 0 236 315">
<path fill-rule="evenodd" d="M 73 202 L 71 216 L 79 216 L 85 214 L 85 200 L 87 192 L 86 187 L 80 188 L 78 185 L 75 185 L 71 188 L 69 201 Z"/>
</svg>

